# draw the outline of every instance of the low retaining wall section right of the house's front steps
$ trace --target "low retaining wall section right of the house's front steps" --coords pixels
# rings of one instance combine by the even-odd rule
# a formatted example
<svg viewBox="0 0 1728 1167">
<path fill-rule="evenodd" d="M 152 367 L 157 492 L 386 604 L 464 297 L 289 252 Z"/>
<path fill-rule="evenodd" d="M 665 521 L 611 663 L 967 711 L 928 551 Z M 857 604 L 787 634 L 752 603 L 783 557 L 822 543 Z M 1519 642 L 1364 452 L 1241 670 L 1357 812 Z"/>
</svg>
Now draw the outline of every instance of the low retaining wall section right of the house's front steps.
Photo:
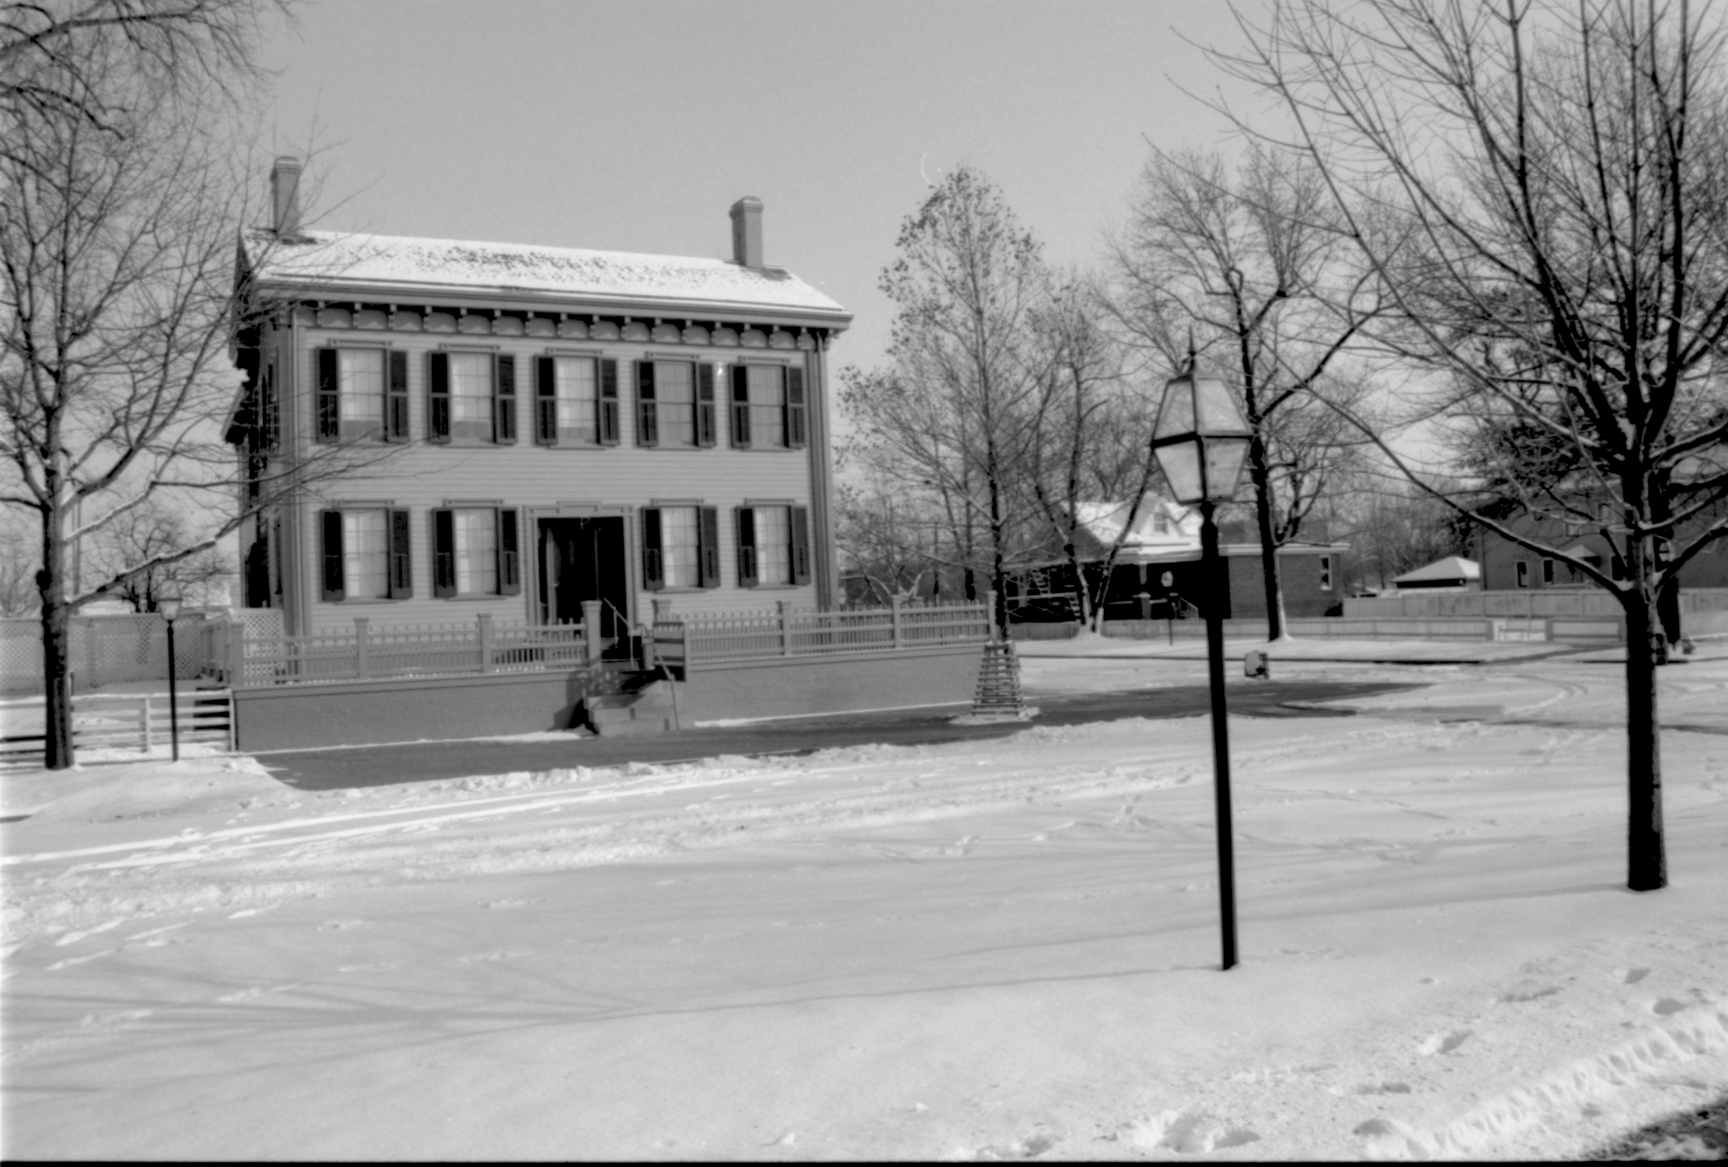
<svg viewBox="0 0 1728 1167">
<path fill-rule="evenodd" d="M 786 717 L 969 702 L 982 645 L 691 666 L 679 717 Z"/>
</svg>

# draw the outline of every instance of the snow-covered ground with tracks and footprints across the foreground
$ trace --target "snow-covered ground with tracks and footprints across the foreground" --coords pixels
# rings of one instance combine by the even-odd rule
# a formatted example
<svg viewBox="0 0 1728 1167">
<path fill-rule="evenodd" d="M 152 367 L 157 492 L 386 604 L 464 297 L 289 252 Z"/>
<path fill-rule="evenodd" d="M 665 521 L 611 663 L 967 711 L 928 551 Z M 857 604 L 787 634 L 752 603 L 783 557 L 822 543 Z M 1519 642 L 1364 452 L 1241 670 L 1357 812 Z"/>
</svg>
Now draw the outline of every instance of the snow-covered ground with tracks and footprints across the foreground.
<svg viewBox="0 0 1728 1167">
<path fill-rule="evenodd" d="M 1203 678 L 1147 652 L 1025 678 Z M 1643 896 L 1617 667 L 1274 655 L 1433 686 L 1232 719 L 1230 972 L 1203 717 L 318 795 L 0 776 L 0 1150 L 1529 1158 L 1728 1087 L 1728 650 L 1662 674 Z"/>
</svg>

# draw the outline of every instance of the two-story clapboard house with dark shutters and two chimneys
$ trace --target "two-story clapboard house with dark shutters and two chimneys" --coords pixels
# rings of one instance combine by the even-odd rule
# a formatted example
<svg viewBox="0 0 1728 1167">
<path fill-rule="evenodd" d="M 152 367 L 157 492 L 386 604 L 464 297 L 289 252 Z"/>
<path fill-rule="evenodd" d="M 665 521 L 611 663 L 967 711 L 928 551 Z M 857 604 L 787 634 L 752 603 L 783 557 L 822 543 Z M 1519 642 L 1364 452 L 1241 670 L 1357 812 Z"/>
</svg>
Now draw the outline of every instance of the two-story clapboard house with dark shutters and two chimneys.
<svg viewBox="0 0 1728 1167">
<path fill-rule="evenodd" d="M 608 641 L 679 612 L 838 598 L 828 348 L 850 315 L 731 259 L 302 232 L 301 166 L 238 252 L 230 441 L 254 474 L 353 455 L 242 532 L 245 605 L 311 635 L 473 621 Z M 589 609 L 593 610 L 593 609 Z"/>
</svg>

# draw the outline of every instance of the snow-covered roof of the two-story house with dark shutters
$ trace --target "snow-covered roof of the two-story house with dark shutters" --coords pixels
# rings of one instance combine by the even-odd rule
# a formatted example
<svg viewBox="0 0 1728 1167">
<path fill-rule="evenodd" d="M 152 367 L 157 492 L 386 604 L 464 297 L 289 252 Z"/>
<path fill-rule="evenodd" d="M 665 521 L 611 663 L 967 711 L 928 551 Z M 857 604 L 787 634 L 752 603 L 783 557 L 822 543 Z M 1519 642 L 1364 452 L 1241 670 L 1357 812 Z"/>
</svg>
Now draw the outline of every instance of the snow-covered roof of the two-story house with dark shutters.
<svg viewBox="0 0 1728 1167">
<path fill-rule="evenodd" d="M 294 240 L 252 232 L 245 246 L 259 282 L 316 289 L 334 297 L 361 289 L 404 296 L 517 292 L 703 311 L 767 309 L 828 318 L 829 327 L 852 320 L 840 304 L 790 271 L 700 256 L 340 232 L 304 232 Z"/>
</svg>

